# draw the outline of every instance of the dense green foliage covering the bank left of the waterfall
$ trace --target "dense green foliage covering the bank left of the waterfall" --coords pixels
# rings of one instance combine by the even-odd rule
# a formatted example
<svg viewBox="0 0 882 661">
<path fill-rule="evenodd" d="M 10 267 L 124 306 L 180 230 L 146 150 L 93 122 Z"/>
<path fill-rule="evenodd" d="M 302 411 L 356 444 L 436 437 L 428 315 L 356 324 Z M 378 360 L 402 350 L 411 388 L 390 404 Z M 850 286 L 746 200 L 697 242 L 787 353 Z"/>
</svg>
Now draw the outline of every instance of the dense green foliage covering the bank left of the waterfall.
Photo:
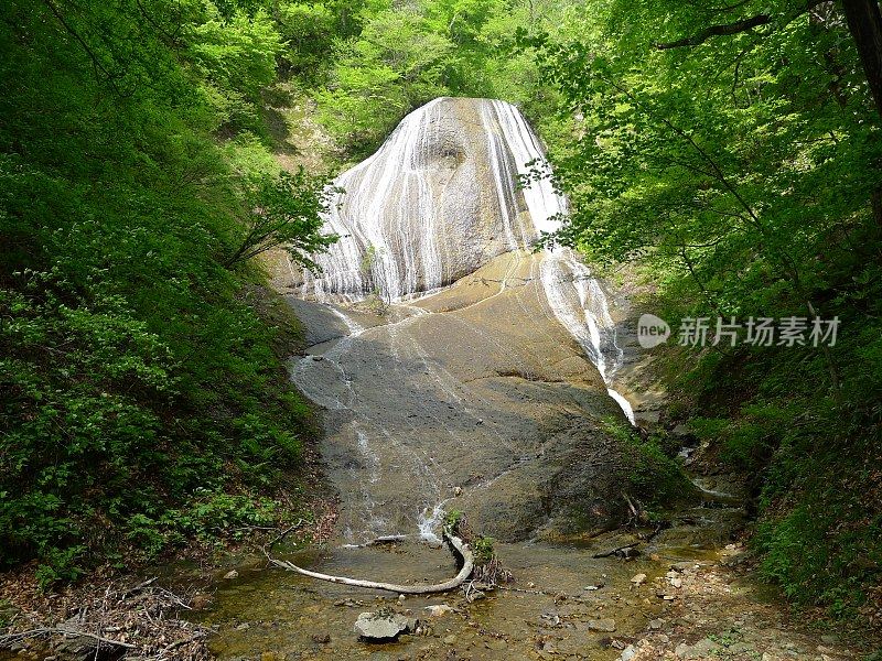
<svg viewBox="0 0 882 661">
<path fill-rule="evenodd" d="M 245 259 L 331 240 L 321 180 L 279 174 L 261 142 L 273 21 L 201 1 L 7 11 L 0 561 L 37 559 L 49 584 L 267 524 L 311 422 Z"/>
</svg>

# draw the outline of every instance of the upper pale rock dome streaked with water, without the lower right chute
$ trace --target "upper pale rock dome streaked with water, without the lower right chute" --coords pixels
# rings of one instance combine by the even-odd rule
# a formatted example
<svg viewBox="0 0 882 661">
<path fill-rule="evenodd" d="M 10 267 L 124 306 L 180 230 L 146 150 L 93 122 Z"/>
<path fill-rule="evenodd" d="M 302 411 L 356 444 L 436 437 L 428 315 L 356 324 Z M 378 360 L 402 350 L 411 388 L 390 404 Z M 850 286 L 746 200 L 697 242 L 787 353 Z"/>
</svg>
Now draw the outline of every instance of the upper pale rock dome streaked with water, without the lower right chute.
<svg viewBox="0 0 882 661">
<path fill-rule="evenodd" d="M 527 247 L 539 231 L 515 182 L 540 155 L 536 140 L 503 101 L 444 97 L 415 110 L 335 180 L 345 193 L 325 221 L 341 240 L 316 257 L 321 273 L 292 270 L 292 284 L 304 296 L 379 291 L 395 300 Z"/>
</svg>

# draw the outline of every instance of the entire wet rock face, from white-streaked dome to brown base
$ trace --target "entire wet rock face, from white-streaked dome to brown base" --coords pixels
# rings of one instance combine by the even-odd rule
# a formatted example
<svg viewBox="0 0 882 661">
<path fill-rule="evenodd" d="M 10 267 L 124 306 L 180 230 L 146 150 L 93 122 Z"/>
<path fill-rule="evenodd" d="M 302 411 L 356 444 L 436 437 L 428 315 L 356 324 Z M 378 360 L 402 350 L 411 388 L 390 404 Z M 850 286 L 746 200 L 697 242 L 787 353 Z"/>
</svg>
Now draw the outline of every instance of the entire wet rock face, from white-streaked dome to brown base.
<svg viewBox="0 0 882 661">
<path fill-rule="evenodd" d="M 567 206 L 548 181 L 519 185 L 537 159 L 514 106 L 442 98 L 336 181 L 326 220 L 343 240 L 297 303 L 323 359 L 291 376 L 326 409 L 323 454 L 353 541 L 431 538 L 454 508 L 499 540 L 622 514 L 628 448 L 604 431 L 625 422 L 610 390 L 622 353 L 589 269 L 531 250 Z M 344 304 L 372 293 L 381 316 Z"/>
</svg>

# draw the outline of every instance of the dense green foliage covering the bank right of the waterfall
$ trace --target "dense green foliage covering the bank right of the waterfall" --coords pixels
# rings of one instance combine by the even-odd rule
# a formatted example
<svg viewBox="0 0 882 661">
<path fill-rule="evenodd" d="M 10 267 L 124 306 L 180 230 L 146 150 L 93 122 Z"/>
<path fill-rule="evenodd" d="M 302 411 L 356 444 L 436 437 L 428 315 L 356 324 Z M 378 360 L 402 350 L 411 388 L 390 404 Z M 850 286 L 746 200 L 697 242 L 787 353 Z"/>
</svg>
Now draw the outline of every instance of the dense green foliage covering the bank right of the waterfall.
<svg viewBox="0 0 882 661">
<path fill-rule="evenodd" d="M 843 615 L 880 575 L 868 494 L 880 490 L 882 121 L 840 10 L 799 7 L 605 0 L 518 42 L 574 138 L 550 142 L 572 203 L 557 240 L 642 262 L 675 327 L 840 318 L 829 350 L 666 353 L 678 410 L 698 412 L 693 431 L 753 477 L 766 575 Z M 771 20 L 653 47 L 756 14 Z"/>
</svg>

